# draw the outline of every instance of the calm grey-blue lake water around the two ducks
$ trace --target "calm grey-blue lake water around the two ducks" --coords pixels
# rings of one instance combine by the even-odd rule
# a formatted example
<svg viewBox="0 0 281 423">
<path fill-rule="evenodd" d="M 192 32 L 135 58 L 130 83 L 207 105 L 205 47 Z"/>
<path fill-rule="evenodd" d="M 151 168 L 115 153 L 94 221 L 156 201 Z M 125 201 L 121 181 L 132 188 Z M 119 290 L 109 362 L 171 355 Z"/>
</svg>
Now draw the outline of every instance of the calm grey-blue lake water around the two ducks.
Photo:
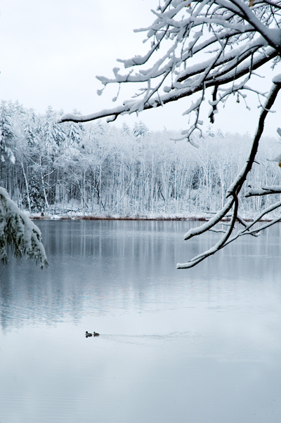
<svg viewBox="0 0 281 423">
<path fill-rule="evenodd" d="M 191 225 L 38 222 L 48 269 L 0 266 L 1 423 L 280 423 L 280 226 L 177 271 Z"/>
</svg>

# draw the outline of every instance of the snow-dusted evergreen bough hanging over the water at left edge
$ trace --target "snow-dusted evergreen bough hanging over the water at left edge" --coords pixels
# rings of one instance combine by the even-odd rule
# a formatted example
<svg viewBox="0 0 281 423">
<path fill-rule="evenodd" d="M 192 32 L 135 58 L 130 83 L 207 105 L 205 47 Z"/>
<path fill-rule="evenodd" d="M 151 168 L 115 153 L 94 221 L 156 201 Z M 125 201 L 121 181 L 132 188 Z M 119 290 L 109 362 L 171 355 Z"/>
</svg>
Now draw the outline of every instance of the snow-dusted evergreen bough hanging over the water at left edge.
<svg viewBox="0 0 281 423">
<path fill-rule="evenodd" d="M 35 259 L 41 268 L 48 266 L 39 228 L 11 200 L 4 188 L 0 187 L 0 260 L 8 261 L 6 247 L 11 245 L 15 257 Z"/>
</svg>

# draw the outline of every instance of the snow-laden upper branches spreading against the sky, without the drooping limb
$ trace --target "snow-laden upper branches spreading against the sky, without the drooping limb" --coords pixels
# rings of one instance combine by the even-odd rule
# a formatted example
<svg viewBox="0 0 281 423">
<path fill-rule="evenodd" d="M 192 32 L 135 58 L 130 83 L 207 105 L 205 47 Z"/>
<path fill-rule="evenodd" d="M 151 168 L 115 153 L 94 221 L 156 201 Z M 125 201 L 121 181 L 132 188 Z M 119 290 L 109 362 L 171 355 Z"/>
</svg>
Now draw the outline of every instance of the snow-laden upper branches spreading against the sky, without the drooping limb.
<svg viewBox="0 0 281 423">
<path fill-rule="evenodd" d="M 246 88 L 241 78 L 246 77 L 249 82 L 256 76 L 255 70 L 280 56 L 280 8 L 281 0 L 250 0 L 249 4 L 243 0 L 160 1 L 157 11 L 152 11 L 155 18 L 152 24 L 137 30 L 147 32 L 148 52 L 119 59 L 124 72 L 115 67 L 113 78 L 98 77 L 105 87 L 137 84 L 138 94 L 117 108 L 91 115 L 68 114 L 60 122 L 87 122 L 101 117 L 112 122 L 119 115 L 160 107 L 200 91 L 204 91 L 205 99 L 211 96 L 211 87 L 218 93 L 224 86 L 228 96 L 237 92 L 237 86 L 241 96 L 245 89 L 259 95 L 249 84 Z M 211 56 L 202 60 L 202 53 Z M 168 80 L 169 84 L 164 86 L 163 82 Z M 99 90 L 99 94 L 102 92 Z M 225 102 L 228 96 L 217 98 L 209 113 L 211 122 L 219 112 L 218 103 Z M 197 122 L 202 121 L 201 105 L 202 101 L 198 108 L 191 105 L 185 112 L 195 113 L 194 122 L 183 134 L 188 141 L 193 131 L 200 131 Z"/>
</svg>

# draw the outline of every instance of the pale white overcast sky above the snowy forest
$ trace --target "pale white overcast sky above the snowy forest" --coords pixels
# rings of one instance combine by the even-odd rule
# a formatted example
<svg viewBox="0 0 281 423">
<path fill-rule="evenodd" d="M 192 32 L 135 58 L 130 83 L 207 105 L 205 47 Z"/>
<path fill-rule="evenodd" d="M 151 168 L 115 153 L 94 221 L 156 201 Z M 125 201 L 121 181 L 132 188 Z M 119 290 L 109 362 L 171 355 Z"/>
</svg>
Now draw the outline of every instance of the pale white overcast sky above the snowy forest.
<svg viewBox="0 0 281 423">
<path fill-rule="evenodd" d="M 120 100 L 112 103 L 117 87 L 107 87 L 103 96 L 96 90 L 102 85 L 96 75 L 112 77 L 112 68 L 122 67 L 117 58 L 130 58 L 145 53 L 145 34 L 133 33 L 134 28 L 147 27 L 153 20 L 151 8 L 158 0 L 0 0 L 0 98 L 18 100 L 27 108 L 44 112 L 48 105 L 55 110 L 83 115 L 103 108 L 115 107 L 133 86 L 124 89 Z M 274 74 L 269 67 L 266 78 L 256 77 L 260 90 L 267 90 Z M 125 96 L 125 97 L 124 97 Z M 226 103 L 216 115 L 212 129 L 216 131 L 249 132 L 254 135 L 259 110 L 256 100 L 249 99 L 251 111 L 236 98 Z M 117 126 L 142 120 L 150 129 L 186 129 L 188 117 L 182 113 L 189 108 L 191 98 L 164 108 L 121 117 Z M 204 129 L 209 126 L 206 104 Z M 276 134 L 281 126 L 281 100 L 266 122 L 266 134 Z"/>
</svg>

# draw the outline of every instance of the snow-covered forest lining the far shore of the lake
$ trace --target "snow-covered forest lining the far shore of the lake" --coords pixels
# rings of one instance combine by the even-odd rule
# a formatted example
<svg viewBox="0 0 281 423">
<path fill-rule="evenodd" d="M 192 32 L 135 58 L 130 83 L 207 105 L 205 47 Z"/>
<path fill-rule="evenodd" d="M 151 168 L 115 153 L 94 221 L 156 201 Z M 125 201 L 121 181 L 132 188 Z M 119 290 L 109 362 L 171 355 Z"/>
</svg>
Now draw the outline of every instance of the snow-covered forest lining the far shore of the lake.
<svg viewBox="0 0 281 423">
<path fill-rule="evenodd" d="M 74 111 L 77 113 L 77 111 Z M 138 122 L 58 124 L 1 102 L 0 186 L 21 210 L 48 216 L 200 217 L 223 207 L 252 138 L 211 129 L 192 144 L 180 132 L 152 132 Z M 163 125 L 164 128 L 164 125 Z M 278 151 L 279 150 L 279 151 Z M 241 214 L 256 216 L 280 194 L 245 198 L 247 188 L 281 185 L 277 138 L 263 138 L 257 163 L 240 193 Z"/>
</svg>

